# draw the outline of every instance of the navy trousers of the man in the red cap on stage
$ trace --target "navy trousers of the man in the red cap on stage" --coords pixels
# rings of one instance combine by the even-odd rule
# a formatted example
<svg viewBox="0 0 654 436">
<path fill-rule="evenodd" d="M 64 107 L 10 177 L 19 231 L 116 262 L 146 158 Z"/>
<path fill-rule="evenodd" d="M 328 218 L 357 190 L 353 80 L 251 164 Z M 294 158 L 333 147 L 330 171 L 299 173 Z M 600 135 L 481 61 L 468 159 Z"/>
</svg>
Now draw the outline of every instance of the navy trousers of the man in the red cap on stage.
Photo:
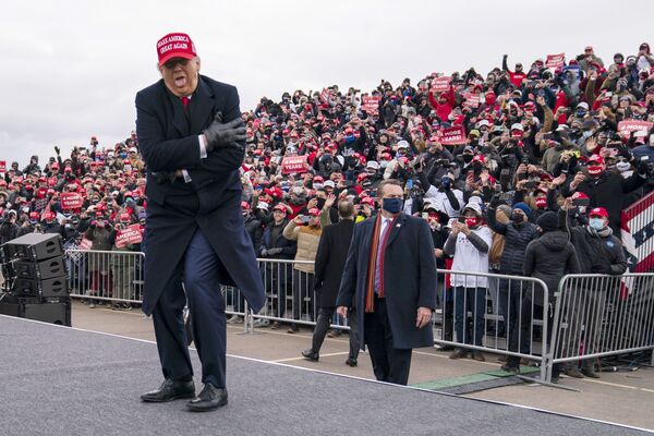
<svg viewBox="0 0 654 436">
<path fill-rule="evenodd" d="M 218 388 L 226 387 L 227 326 L 219 284 L 219 262 L 198 229 L 186 247 L 181 266 L 157 302 L 153 320 L 166 378 L 187 379 L 193 376 L 182 319 L 182 310 L 187 300 L 193 338 L 202 362 L 202 382 L 210 382 Z"/>
</svg>

